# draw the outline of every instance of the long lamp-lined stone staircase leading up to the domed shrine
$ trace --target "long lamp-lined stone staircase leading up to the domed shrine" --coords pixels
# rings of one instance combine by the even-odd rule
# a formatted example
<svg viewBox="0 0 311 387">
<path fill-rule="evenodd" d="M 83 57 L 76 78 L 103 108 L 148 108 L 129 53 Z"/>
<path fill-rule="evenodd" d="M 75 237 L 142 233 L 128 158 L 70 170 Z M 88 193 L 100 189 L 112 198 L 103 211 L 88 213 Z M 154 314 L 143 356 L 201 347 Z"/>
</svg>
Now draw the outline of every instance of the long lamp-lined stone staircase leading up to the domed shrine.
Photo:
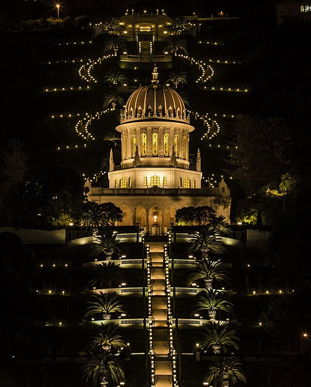
<svg viewBox="0 0 311 387">
<path fill-rule="evenodd" d="M 172 387 L 172 362 L 169 357 L 167 299 L 165 297 L 165 274 L 163 268 L 163 253 L 150 253 L 151 283 L 152 283 L 152 317 L 154 319 L 154 352 L 155 352 L 155 387 Z"/>
</svg>

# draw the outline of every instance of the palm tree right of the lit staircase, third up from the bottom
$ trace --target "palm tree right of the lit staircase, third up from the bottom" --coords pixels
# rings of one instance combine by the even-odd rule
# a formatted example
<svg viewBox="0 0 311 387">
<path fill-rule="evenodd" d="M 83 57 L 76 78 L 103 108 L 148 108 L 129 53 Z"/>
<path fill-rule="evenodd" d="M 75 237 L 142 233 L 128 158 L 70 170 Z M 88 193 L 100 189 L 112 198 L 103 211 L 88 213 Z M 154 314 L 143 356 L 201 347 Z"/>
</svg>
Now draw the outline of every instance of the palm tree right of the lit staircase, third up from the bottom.
<svg viewBox="0 0 311 387">
<path fill-rule="evenodd" d="M 228 315 L 234 314 L 232 303 L 225 292 L 219 290 L 203 290 L 195 296 L 192 306 L 192 315 L 202 310 L 207 310 L 208 318 L 215 321 L 218 310 L 224 310 Z"/>
</svg>

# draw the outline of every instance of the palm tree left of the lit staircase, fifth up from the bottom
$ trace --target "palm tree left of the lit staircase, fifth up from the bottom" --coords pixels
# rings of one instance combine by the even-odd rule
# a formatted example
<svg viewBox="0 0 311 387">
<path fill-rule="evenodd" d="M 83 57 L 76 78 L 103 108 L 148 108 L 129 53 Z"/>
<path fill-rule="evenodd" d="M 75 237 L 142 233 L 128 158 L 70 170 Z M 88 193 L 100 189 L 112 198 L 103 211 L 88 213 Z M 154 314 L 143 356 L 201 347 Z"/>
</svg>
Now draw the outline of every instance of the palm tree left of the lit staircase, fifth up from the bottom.
<svg viewBox="0 0 311 387">
<path fill-rule="evenodd" d="M 102 257 L 104 255 L 106 261 L 110 261 L 113 254 L 123 254 L 127 252 L 127 248 L 122 245 L 123 239 L 117 239 L 117 233 L 107 231 L 104 235 L 98 235 L 95 243 L 91 246 L 91 257 Z"/>
</svg>

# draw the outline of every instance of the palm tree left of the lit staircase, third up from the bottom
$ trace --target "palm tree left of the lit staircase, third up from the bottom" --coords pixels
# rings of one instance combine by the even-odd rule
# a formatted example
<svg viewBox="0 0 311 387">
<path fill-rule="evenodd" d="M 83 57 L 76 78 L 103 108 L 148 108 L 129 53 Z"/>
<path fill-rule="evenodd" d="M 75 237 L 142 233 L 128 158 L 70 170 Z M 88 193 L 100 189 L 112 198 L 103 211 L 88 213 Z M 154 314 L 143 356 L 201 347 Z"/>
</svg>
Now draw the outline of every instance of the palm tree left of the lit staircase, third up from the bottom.
<svg viewBox="0 0 311 387">
<path fill-rule="evenodd" d="M 124 313 L 124 305 L 121 304 L 120 297 L 116 292 L 103 293 L 99 292 L 99 296 L 92 302 L 87 302 L 90 306 L 87 308 L 85 317 L 95 316 L 98 313 L 103 314 L 103 320 L 110 320 L 112 313 Z"/>
</svg>

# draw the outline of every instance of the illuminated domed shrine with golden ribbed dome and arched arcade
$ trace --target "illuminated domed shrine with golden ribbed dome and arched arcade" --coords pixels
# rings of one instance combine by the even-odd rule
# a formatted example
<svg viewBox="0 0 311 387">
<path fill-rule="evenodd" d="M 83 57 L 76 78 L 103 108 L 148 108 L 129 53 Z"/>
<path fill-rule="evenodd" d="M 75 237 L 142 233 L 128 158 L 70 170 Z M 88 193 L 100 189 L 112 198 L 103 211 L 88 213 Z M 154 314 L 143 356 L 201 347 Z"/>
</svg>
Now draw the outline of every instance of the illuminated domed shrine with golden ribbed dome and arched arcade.
<svg viewBox="0 0 311 387">
<path fill-rule="evenodd" d="M 123 225 L 139 223 L 152 234 L 166 232 L 175 212 L 185 206 L 211 206 L 230 219 L 230 191 L 201 188 L 201 157 L 189 162 L 190 125 L 184 103 L 172 88 L 159 85 L 157 70 L 151 85 L 128 99 L 121 124 L 121 165 L 109 163 L 109 188 L 91 187 L 89 200 L 112 201 L 121 207 Z"/>
</svg>

